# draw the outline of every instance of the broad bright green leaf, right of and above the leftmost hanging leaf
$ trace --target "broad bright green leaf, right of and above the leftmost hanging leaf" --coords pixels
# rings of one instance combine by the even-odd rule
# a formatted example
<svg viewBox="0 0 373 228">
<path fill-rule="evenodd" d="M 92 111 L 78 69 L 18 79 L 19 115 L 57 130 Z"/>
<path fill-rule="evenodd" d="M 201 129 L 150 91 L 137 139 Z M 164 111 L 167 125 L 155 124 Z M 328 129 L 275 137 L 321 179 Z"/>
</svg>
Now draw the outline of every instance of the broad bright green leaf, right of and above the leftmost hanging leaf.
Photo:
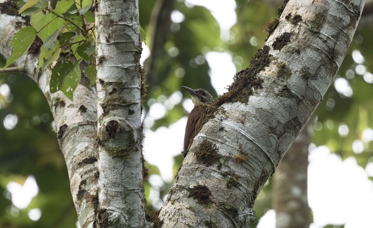
<svg viewBox="0 0 373 228">
<path fill-rule="evenodd" d="M 43 12 L 35 13 L 31 16 L 30 24 L 38 32 L 37 35 L 44 42 L 45 39 L 59 29 L 64 23 L 64 20 L 52 13 L 44 15 Z"/>
</svg>

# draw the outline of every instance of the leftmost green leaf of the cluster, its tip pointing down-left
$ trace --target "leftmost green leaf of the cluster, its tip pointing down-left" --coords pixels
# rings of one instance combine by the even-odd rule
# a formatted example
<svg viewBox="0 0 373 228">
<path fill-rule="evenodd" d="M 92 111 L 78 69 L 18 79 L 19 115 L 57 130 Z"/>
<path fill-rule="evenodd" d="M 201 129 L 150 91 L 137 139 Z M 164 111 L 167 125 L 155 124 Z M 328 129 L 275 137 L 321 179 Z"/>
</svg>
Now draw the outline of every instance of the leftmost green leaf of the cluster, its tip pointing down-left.
<svg viewBox="0 0 373 228">
<path fill-rule="evenodd" d="M 26 53 L 26 51 L 31 46 L 32 42 L 36 37 L 36 30 L 31 26 L 26 26 L 19 30 L 16 35 L 13 36 L 10 46 L 13 48 L 13 52 L 10 57 L 6 60 L 5 67 L 12 64 L 14 61 L 18 60 Z M 4 67 L 4 68 L 5 68 Z"/>
</svg>

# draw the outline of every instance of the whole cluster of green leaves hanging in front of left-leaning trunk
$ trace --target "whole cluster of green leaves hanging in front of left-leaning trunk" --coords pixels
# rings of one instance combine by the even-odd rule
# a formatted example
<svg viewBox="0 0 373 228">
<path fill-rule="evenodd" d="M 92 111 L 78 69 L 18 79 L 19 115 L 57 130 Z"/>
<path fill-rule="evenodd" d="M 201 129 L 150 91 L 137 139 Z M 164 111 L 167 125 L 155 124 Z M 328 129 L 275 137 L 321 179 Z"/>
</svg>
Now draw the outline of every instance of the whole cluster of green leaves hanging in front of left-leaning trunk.
<svg viewBox="0 0 373 228">
<path fill-rule="evenodd" d="M 83 60 L 90 62 L 84 72 L 91 80 L 90 86 L 96 80 L 95 23 L 93 13 L 89 11 L 91 7 L 92 0 L 60 0 L 54 9 L 50 1 L 28 0 L 18 13 L 31 16 L 31 26 L 22 28 L 13 37 L 13 52 L 5 67 L 21 58 L 38 36 L 43 45 L 37 69 L 45 70 L 59 58 L 60 53 L 66 53 L 66 58 L 59 58 L 52 70 L 50 92 L 61 90 L 73 100 L 73 91 L 81 80 L 79 64 Z"/>
</svg>

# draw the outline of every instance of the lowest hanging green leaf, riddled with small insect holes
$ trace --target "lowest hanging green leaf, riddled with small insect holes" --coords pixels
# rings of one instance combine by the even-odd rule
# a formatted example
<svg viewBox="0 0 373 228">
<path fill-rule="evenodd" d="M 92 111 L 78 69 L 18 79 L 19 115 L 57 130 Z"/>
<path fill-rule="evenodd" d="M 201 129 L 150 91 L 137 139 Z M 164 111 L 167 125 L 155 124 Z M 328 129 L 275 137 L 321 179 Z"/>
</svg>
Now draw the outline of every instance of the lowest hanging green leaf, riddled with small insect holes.
<svg viewBox="0 0 373 228">
<path fill-rule="evenodd" d="M 50 92 L 61 90 L 66 97 L 73 100 L 73 91 L 78 87 L 81 72 L 78 62 L 59 61 L 52 70 Z"/>
</svg>

